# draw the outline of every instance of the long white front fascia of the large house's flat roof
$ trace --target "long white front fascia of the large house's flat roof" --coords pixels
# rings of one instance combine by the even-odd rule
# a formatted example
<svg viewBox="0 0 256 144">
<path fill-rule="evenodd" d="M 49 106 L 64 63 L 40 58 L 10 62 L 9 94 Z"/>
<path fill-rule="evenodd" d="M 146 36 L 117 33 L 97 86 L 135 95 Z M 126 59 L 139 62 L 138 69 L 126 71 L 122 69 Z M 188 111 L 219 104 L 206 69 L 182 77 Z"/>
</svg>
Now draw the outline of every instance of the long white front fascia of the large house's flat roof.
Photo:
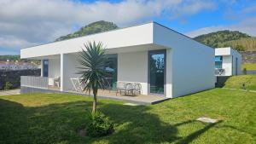
<svg viewBox="0 0 256 144">
<path fill-rule="evenodd" d="M 102 32 L 85 37 L 72 38 L 55 43 L 47 43 L 31 48 L 21 49 L 20 58 L 35 58 L 47 55 L 76 53 L 84 48 L 84 43 L 102 42 L 107 49 L 131 50 L 138 45 L 153 43 L 153 25 L 148 23 L 140 26 L 127 27 L 110 32 Z M 119 49 L 119 50 L 118 50 Z M 111 50 L 110 50 L 111 51 Z"/>
</svg>

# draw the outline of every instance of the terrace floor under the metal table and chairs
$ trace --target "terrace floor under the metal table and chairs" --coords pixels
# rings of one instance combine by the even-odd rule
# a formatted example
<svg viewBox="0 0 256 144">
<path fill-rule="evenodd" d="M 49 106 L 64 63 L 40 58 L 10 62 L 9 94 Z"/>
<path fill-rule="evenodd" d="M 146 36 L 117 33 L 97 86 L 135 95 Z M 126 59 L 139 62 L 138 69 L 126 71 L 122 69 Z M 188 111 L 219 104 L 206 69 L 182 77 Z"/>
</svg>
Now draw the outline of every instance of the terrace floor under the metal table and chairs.
<svg viewBox="0 0 256 144">
<path fill-rule="evenodd" d="M 83 92 L 75 92 L 75 91 L 68 91 L 68 93 L 86 95 Z M 115 91 L 102 90 L 102 89 L 99 89 L 98 91 L 98 98 L 127 101 L 127 102 L 136 103 L 140 105 L 153 105 L 153 104 L 160 103 L 162 101 L 166 101 L 170 99 L 160 95 L 120 95 L 120 94 L 116 95 Z"/>
</svg>

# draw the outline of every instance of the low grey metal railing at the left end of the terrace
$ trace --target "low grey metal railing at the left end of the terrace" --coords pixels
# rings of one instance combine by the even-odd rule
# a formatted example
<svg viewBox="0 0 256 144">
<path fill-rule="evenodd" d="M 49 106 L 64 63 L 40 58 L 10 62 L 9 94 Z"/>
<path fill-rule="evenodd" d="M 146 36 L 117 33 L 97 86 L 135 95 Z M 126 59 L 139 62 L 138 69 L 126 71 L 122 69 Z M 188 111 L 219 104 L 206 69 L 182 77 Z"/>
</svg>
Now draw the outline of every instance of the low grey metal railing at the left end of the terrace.
<svg viewBox="0 0 256 144">
<path fill-rule="evenodd" d="M 20 76 L 20 86 L 48 89 L 47 77 Z"/>
</svg>

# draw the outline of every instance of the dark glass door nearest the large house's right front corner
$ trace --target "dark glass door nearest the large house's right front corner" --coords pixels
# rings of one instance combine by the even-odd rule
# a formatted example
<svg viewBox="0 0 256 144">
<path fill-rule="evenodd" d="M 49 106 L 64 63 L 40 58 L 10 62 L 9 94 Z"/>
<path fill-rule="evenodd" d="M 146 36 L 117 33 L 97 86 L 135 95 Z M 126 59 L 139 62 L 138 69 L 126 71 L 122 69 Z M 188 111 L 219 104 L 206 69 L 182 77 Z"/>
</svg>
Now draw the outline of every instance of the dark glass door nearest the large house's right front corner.
<svg viewBox="0 0 256 144">
<path fill-rule="evenodd" d="M 149 91 L 152 94 L 165 93 L 166 50 L 149 51 Z"/>
</svg>

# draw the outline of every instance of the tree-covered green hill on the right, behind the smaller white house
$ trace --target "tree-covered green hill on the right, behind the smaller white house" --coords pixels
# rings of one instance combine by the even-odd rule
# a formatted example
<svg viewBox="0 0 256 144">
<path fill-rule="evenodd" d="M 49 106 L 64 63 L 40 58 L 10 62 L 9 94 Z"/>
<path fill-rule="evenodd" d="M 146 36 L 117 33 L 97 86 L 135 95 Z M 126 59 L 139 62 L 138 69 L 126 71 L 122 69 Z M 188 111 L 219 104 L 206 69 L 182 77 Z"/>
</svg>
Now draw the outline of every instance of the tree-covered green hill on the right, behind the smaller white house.
<svg viewBox="0 0 256 144">
<path fill-rule="evenodd" d="M 212 48 L 233 46 L 235 49 L 242 51 L 242 50 L 246 50 L 247 48 L 243 48 L 243 46 L 241 45 L 241 42 L 243 43 L 243 41 L 247 38 L 251 38 L 251 37 L 246 33 L 225 30 L 225 31 L 218 31 L 218 32 L 203 34 L 201 36 L 195 37 L 194 39 L 198 42 L 205 43 L 206 45 Z M 240 43 L 235 43 L 235 41 L 237 40 L 240 40 L 239 41 Z"/>
</svg>

